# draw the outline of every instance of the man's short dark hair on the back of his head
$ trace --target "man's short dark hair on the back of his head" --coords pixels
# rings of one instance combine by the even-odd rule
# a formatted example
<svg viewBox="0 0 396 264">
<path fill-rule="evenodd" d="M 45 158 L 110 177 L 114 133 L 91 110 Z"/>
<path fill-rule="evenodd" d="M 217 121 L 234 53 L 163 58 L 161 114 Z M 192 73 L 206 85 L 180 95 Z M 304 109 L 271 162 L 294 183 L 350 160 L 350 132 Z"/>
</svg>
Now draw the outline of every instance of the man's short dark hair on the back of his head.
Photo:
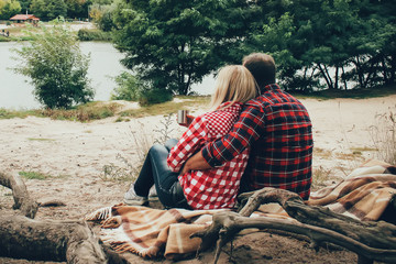
<svg viewBox="0 0 396 264">
<path fill-rule="evenodd" d="M 275 61 L 271 55 L 264 53 L 252 53 L 242 61 L 253 75 L 257 85 L 263 88 L 266 85 L 275 82 Z"/>
</svg>

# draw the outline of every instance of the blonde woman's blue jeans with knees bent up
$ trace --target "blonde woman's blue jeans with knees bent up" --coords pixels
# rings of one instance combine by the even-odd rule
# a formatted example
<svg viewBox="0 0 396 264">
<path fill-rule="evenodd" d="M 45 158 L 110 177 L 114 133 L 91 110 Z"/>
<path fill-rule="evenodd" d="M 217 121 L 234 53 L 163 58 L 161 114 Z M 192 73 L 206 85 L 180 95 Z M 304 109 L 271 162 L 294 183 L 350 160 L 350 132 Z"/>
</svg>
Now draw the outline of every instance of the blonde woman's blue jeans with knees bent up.
<svg viewBox="0 0 396 264">
<path fill-rule="evenodd" d="M 169 169 L 166 158 L 177 140 L 170 139 L 165 145 L 154 144 L 143 163 L 143 167 L 135 182 L 135 193 L 148 196 L 150 188 L 155 185 L 160 201 L 165 208 L 190 209 L 177 179 L 178 173 Z"/>
</svg>

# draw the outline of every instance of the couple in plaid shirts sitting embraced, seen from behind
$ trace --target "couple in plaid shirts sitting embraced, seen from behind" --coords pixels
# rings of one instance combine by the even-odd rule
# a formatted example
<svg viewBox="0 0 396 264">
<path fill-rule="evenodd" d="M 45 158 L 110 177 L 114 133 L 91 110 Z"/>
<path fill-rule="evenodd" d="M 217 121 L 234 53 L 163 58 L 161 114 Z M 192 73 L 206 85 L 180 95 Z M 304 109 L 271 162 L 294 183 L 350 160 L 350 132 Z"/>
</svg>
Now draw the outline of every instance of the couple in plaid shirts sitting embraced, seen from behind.
<svg viewBox="0 0 396 264">
<path fill-rule="evenodd" d="M 272 56 L 254 53 L 243 66 L 221 68 L 211 111 L 189 121 L 178 141 L 150 148 L 127 205 L 147 205 L 153 185 L 165 208 L 233 208 L 239 194 L 264 187 L 309 198 L 311 121 L 275 84 Z"/>
</svg>

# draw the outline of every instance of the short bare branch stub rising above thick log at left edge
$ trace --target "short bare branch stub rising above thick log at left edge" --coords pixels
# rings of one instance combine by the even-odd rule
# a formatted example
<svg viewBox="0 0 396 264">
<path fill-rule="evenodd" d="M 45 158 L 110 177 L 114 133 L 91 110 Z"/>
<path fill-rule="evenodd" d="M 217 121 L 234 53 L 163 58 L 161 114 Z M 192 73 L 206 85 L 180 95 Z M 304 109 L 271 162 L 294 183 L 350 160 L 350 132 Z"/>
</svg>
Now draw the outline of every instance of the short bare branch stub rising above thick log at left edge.
<svg viewBox="0 0 396 264">
<path fill-rule="evenodd" d="M 32 219 L 35 217 L 38 205 L 30 198 L 26 186 L 19 175 L 0 173 L 0 185 L 12 190 L 14 199 L 13 209 L 20 209 L 21 213 L 25 217 Z"/>
</svg>

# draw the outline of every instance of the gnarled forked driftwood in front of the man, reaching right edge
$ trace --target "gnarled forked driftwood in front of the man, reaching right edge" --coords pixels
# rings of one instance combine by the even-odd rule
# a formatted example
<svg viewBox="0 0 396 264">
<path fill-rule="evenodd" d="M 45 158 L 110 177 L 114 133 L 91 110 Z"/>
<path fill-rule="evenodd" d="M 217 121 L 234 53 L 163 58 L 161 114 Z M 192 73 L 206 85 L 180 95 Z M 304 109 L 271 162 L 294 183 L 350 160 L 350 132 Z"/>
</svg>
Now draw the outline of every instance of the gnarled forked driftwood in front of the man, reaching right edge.
<svg viewBox="0 0 396 264">
<path fill-rule="evenodd" d="M 201 238 L 199 251 L 217 241 L 215 263 L 221 249 L 243 229 L 280 230 L 307 237 L 314 248 L 329 242 L 359 255 L 359 263 L 396 262 L 396 226 L 384 221 L 358 221 L 334 213 L 327 208 L 307 206 L 290 191 L 264 188 L 242 195 L 245 206 L 238 212 L 226 211 L 213 216 L 213 222 L 191 238 Z M 249 218 L 261 205 L 279 204 L 294 219 Z M 296 221 L 297 220 L 297 221 Z"/>
</svg>

